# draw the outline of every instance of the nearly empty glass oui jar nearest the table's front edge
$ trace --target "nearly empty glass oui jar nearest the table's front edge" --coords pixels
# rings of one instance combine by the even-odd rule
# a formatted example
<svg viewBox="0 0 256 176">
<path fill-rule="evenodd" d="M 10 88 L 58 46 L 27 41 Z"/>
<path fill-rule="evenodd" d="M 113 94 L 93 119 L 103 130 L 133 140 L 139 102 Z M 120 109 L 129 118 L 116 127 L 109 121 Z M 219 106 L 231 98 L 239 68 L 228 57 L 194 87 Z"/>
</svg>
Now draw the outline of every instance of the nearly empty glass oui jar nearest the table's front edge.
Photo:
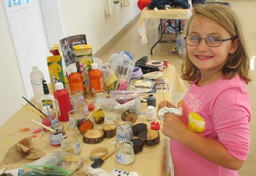
<svg viewBox="0 0 256 176">
<path fill-rule="evenodd" d="M 121 165 L 128 165 L 134 162 L 133 143 L 129 140 L 119 141 L 115 144 L 116 162 Z"/>
</svg>

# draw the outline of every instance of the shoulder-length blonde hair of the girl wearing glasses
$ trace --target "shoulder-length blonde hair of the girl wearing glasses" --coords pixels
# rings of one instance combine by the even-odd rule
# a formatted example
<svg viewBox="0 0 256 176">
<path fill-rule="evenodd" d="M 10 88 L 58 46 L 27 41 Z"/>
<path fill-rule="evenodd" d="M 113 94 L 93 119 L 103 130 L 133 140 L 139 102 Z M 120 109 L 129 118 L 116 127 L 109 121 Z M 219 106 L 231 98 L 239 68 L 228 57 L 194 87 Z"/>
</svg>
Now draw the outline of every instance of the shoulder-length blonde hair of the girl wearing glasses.
<svg viewBox="0 0 256 176">
<path fill-rule="evenodd" d="M 222 68 L 222 76 L 225 79 L 232 79 L 237 74 L 248 84 L 251 79 L 248 77 L 249 57 L 246 51 L 241 24 L 231 8 L 222 4 L 202 4 L 193 8 L 192 16 L 188 20 L 185 34 L 188 35 L 191 20 L 194 16 L 205 17 L 226 29 L 232 38 L 238 38 L 240 45 L 235 53 L 229 54 L 225 65 Z M 182 79 L 193 82 L 200 76 L 200 70 L 190 61 L 188 53 L 183 60 Z"/>
</svg>

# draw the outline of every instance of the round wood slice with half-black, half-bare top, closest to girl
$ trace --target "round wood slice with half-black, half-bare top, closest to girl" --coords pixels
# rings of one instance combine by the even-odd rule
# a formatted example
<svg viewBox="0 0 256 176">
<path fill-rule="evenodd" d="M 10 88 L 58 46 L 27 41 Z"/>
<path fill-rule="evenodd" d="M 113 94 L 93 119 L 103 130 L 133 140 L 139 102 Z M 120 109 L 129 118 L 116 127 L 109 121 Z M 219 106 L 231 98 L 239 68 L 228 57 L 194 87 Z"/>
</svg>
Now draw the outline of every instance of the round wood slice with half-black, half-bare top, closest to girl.
<svg viewBox="0 0 256 176">
<path fill-rule="evenodd" d="M 138 137 L 142 139 L 147 146 L 153 146 L 160 142 L 159 132 L 155 130 L 144 130 L 139 133 Z"/>
</svg>

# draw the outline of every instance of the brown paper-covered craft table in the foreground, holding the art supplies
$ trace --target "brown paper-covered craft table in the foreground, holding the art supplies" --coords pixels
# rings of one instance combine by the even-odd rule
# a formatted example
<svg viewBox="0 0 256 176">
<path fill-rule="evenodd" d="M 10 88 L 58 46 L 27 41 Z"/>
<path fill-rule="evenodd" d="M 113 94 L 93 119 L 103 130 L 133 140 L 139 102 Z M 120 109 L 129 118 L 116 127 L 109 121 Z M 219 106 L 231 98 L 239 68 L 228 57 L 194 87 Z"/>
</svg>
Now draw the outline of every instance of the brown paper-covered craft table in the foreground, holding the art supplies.
<svg viewBox="0 0 256 176">
<path fill-rule="evenodd" d="M 176 104 L 187 91 L 187 88 L 184 84 L 184 82 L 179 78 L 179 75 L 173 65 L 168 65 L 163 70 L 163 76 L 162 78 L 168 78 L 169 84 L 170 84 L 170 92 L 165 93 L 166 100 L 169 100 L 171 103 Z M 147 95 L 146 95 L 147 96 Z M 160 101 L 162 101 L 162 94 L 154 94 L 156 97 L 156 105 Z M 21 98 L 21 97 L 20 97 Z M 86 95 L 86 100 L 92 100 L 92 97 L 90 95 Z M 40 107 L 39 104 L 36 103 L 34 99 L 31 100 L 33 104 Z M 26 103 L 24 101 L 24 103 Z M 27 106 L 31 107 L 26 104 Z M 143 103 L 143 107 L 146 111 L 146 103 Z M 32 108 L 32 107 L 31 107 Z M 90 112 L 90 116 L 92 115 L 92 112 Z M 6 152 L 8 149 L 16 144 L 19 140 L 26 136 L 33 135 L 32 130 L 26 131 L 26 132 L 20 132 L 18 129 L 18 124 L 28 121 L 32 123 L 32 119 L 36 121 L 41 121 L 39 115 L 36 115 L 35 113 L 28 111 L 28 109 L 25 109 L 22 107 L 19 111 L 17 111 L 6 123 L 4 123 L 0 127 L 0 161 L 4 158 Z M 150 129 L 150 122 L 146 120 L 146 115 L 139 115 L 138 119 L 134 122 L 134 124 L 137 123 L 146 123 L 148 125 L 148 129 Z M 90 151 L 98 146 L 104 146 L 108 148 L 108 150 L 114 149 L 114 143 L 116 142 L 116 137 L 113 138 L 104 138 L 100 143 L 98 144 L 85 144 L 82 142 L 82 134 L 78 131 L 76 128 L 74 131 L 72 131 L 72 128 L 69 126 L 69 122 L 60 122 L 60 124 L 65 126 L 65 131 L 67 134 L 70 134 L 74 132 L 78 135 L 80 144 L 81 144 L 81 154 L 80 156 L 85 157 L 86 165 L 92 164 L 92 161 L 89 159 Z M 104 124 L 106 124 L 106 121 L 104 121 Z M 102 128 L 103 124 L 96 124 L 94 123 L 94 128 Z M 114 168 L 128 171 L 128 172 L 138 172 L 141 176 L 167 176 L 172 175 L 169 172 L 171 172 L 172 169 L 172 161 L 170 159 L 170 150 L 169 150 L 169 140 L 162 134 L 162 124 L 159 131 L 160 133 L 160 143 L 156 146 L 144 146 L 143 150 L 139 152 L 138 154 L 135 154 L 135 161 L 127 166 L 121 166 L 117 164 L 115 159 L 115 154 L 110 156 L 101 166 L 102 169 L 106 170 L 107 172 L 111 172 Z M 32 138 L 32 146 L 36 149 L 42 150 L 46 154 L 49 154 L 53 151 L 61 151 L 61 147 L 55 147 L 51 146 L 49 143 L 49 132 L 40 131 L 37 133 L 38 137 Z M 0 166 L 0 169 L 7 168 L 8 170 L 12 170 L 15 168 L 20 168 L 24 164 L 30 163 L 33 160 L 27 160 L 22 159 L 17 163 L 12 164 L 4 164 Z"/>
</svg>

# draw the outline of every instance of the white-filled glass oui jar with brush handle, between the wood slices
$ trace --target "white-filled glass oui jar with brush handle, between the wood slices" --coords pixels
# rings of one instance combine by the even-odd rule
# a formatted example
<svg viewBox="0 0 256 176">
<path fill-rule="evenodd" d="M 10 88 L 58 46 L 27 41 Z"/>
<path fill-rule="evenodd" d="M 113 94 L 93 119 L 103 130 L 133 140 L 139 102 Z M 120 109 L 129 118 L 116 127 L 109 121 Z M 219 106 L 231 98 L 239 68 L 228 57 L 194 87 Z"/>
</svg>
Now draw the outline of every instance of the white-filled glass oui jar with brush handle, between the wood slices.
<svg viewBox="0 0 256 176">
<path fill-rule="evenodd" d="M 119 127 L 122 127 L 122 129 Z M 132 123 L 131 122 L 120 122 L 116 125 L 116 140 L 130 140 L 133 137 Z"/>
</svg>

